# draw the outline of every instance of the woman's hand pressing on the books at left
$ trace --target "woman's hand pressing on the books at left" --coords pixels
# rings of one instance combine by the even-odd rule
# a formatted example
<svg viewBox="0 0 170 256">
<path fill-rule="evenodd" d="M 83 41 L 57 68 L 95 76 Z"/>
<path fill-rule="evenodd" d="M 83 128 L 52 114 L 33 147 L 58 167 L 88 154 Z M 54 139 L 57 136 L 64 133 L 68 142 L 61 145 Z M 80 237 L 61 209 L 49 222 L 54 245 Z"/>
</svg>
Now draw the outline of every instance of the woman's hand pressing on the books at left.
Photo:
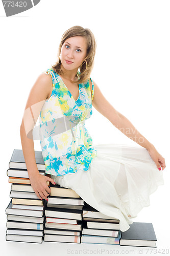
<svg viewBox="0 0 170 256">
<path fill-rule="evenodd" d="M 56 184 L 54 180 L 48 176 L 43 176 L 41 174 L 36 174 L 33 177 L 30 177 L 30 183 L 32 188 L 35 191 L 35 194 L 39 199 L 45 199 L 48 201 L 47 196 L 50 195 L 51 189 L 47 185 L 47 181 L 51 181 L 52 184 Z"/>
</svg>

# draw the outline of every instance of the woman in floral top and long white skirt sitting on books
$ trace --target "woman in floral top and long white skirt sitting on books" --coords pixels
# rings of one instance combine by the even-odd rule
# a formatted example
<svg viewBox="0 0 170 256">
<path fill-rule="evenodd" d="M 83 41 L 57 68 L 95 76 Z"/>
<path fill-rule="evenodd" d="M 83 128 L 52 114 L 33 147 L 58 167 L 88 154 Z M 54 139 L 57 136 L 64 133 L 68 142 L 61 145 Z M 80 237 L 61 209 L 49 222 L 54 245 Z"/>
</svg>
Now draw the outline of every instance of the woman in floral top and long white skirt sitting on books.
<svg viewBox="0 0 170 256">
<path fill-rule="evenodd" d="M 30 92 L 20 126 L 22 150 L 39 199 L 47 200 L 51 192 L 46 181 L 56 182 L 74 189 L 103 214 L 119 219 L 120 230 L 125 231 L 130 218 L 150 204 L 150 194 L 163 184 L 165 160 L 90 78 L 95 48 L 89 29 L 75 26 L 63 34 L 58 61 L 39 75 Z M 141 147 L 93 145 L 85 127 L 92 105 Z M 46 174 L 53 179 L 39 175 L 35 161 L 31 133 L 38 116 Z"/>
</svg>

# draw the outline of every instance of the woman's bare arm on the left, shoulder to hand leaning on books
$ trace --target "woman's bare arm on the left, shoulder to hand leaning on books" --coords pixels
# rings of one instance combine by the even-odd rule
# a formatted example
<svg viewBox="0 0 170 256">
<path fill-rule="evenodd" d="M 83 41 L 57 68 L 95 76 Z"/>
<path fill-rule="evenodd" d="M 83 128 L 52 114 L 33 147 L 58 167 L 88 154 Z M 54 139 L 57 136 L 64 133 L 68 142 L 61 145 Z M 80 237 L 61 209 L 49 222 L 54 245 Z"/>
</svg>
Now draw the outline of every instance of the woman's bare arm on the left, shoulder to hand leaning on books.
<svg viewBox="0 0 170 256">
<path fill-rule="evenodd" d="M 38 119 L 45 99 L 50 97 L 52 93 L 52 84 L 53 81 L 50 75 L 41 74 L 37 78 L 28 97 L 25 112 L 20 125 L 22 151 L 26 161 L 31 186 L 33 187 L 37 197 L 41 200 L 47 200 L 47 196 L 51 192 L 51 189 L 47 186 L 46 181 L 51 181 L 53 184 L 55 184 L 55 182 L 53 179 L 39 174 L 35 160 L 32 130 Z"/>
</svg>

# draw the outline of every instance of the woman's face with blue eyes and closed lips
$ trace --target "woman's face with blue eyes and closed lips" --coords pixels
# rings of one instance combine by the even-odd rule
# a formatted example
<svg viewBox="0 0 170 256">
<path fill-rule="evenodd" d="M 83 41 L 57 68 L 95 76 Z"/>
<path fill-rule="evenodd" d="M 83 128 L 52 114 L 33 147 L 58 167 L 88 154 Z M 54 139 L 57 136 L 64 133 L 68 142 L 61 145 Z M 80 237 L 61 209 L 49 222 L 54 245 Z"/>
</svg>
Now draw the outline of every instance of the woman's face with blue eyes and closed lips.
<svg viewBox="0 0 170 256">
<path fill-rule="evenodd" d="M 61 64 L 66 70 L 77 70 L 87 53 L 86 38 L 74 36 L 65 40 L 61 47 Z"/>
</svg>

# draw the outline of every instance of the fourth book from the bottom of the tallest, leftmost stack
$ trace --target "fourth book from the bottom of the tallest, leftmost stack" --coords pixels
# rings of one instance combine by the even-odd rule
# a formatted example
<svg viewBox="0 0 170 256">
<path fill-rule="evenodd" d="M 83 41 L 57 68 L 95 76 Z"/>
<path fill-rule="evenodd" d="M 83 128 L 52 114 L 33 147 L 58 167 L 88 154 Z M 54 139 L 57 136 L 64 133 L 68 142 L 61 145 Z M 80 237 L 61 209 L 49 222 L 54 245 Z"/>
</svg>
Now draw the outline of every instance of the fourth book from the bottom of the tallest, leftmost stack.
<svg viewBox="0 0 170 256">
<path fill-rule="evenodd" d="M 41 218 L 38 217 L 29 217 L 29 216 L 18 216 L 18 215 L 7 215 L 7 220 L 9 221 L 20 221 L 20 222 L 32 222 L 32 223 L 43 223 L 45 216 Z"/>
</svg>

